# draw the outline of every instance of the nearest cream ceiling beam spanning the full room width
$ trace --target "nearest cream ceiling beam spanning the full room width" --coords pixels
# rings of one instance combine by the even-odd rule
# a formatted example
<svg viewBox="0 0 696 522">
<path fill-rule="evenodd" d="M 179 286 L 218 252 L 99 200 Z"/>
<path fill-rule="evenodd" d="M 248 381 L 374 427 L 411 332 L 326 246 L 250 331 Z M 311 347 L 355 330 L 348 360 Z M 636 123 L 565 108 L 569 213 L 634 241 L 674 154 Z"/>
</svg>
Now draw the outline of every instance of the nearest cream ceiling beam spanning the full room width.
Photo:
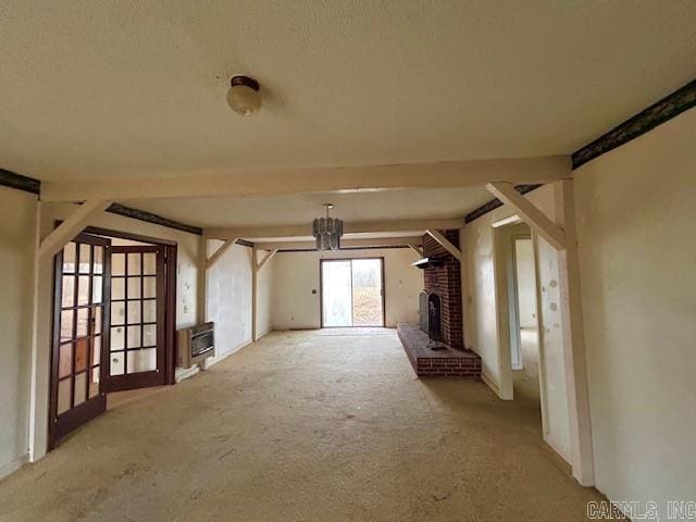
<svg viewBox="0 0 696 522">
<path fill-rule="evenodd" d="M 44 201 L 87 199 L 276 196 L 298 192 L 350 192 L 405 188 L 455 188 L 488 182 L 551 183 L 571 177 L 568 156 L 439 161 L 432 163 L 283 169 L 41 184 Z"/>
</svg>

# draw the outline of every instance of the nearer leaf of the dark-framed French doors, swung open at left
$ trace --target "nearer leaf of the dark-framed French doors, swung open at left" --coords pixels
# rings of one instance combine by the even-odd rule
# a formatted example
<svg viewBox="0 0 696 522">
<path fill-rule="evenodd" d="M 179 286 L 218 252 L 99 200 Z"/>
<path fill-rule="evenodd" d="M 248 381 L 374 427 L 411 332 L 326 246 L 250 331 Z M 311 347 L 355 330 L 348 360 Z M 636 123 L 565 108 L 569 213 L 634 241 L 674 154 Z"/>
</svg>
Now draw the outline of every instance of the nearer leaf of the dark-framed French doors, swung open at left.
<svg viewBox="0 0 696 522">
<path fill-rule="evenodd" d="M 55 256 L 51 447 L 104 411 L 100 382 L 109 245 L 83 234 Z"/>
</svg>

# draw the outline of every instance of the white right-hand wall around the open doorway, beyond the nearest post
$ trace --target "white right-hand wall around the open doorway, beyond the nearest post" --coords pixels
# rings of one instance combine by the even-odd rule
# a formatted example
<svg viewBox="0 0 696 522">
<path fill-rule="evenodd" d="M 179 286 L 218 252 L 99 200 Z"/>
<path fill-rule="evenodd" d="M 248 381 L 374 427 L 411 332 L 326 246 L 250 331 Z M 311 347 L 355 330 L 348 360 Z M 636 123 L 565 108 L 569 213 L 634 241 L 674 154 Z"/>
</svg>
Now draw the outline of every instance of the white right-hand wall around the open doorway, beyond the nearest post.
<svg viewBox="0 0 696 522">
<path fill-rule="evenodd" d="M 526 195 L 549 217 L 555 217 L 556 199 L 554 186 L 546 185 Z M 481 356 L 482 372 L 486 383 L 505 397 L 504 375 L 508 377 L 509 359 L 499 357 L 501 337 L 509 335 L 498 316 L 496 291 L 506 291 L 499 285 L 501 275 L 496 274 L 493 223 L 510 217 L 514 212 L 509 207 L 500 207 L 469 223 L 460 233 L 463 247 L 462 286 L 464 296 L 464 344 Z M 570 436 L 568 417 L 568 395 L 566 390 L 566 366 L 560 320 L 560 287 L 558 252 L 544 239 L 538 239 L 540 289 L 539 318 L 539 365 L 542 370 L 544 439 L 569 460 Z M 498 253 L 499 254 L 499 253 Z M 504 272 L 500 271 L 500 274 Z M 499 288 L 502 286 L 502 288 Z M 507 315 L 507 314 L 506 314 Z M 507 345 L 506 345 L 507 346 Z M 509 350 L 501 350 L 509 353 Z M 507 372 L 507 373 L 506 373 Z"/>
</svg>

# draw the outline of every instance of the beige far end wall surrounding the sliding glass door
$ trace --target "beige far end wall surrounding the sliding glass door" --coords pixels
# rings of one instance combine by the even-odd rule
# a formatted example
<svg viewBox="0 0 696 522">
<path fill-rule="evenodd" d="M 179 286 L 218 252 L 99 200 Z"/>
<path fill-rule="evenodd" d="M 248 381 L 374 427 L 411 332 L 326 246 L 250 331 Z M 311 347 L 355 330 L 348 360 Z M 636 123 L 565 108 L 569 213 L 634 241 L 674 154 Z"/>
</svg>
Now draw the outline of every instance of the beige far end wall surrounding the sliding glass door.
<svg viewBox="0 0 696 522">
<path fill-rule="evenodd" d="M 418 323 L 418 296 L 423 272 L 411 266 L 419 257 L 410 248 L 341 250 L 338 252 L 278 252 L 275 257 L 273 328 L 319 328 L 320 259 L 384 258 L 386 325 Z M 312 294 L 316 290 L 316 294 Z"/>
</svg>

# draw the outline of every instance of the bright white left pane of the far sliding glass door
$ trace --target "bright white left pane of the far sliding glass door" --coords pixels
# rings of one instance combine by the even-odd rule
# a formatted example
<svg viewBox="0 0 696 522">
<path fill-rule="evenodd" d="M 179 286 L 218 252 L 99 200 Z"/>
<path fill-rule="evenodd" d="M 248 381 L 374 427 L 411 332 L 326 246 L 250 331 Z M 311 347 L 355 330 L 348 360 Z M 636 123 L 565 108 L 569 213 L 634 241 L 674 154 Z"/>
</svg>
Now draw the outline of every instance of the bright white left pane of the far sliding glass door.
<svg viewBox="0 0 696 522">
<path fill-rule="evenodd" d="M 323 326 L 352 326 L 350 261 L 327 261 L 322 266 Z"/>
</svg>

